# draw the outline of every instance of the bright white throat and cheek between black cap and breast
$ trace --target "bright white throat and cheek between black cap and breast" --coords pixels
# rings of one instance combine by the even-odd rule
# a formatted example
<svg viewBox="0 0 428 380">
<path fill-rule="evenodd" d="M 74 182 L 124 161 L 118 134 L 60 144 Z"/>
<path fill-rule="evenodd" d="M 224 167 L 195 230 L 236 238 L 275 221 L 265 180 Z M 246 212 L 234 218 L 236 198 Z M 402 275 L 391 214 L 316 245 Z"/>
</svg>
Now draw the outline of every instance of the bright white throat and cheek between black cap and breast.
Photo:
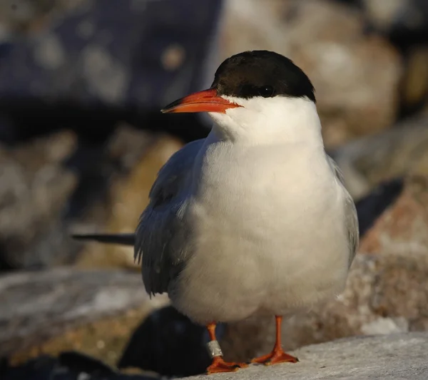
<svg viewBox="0 0 428 380">
<path fill-rule="evenodd" d="M 220 140 L 250 145 L 306 143 L 323 147 L 317 107 L 307 98 L 223 98 L 242 107 L 209 113 L 215 121 L 213 133 Z"/>
</svg>

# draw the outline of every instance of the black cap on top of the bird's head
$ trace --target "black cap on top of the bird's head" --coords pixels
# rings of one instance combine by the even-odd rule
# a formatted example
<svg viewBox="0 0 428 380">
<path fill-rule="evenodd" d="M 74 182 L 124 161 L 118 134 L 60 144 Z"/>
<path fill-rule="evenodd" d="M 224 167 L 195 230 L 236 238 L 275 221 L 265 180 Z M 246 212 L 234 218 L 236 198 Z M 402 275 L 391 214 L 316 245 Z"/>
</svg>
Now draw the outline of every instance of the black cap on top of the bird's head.
<svg viewBox="0 0 428 380">
<path fill-rule="evenodd" d="M 215 72 L 219 96 L 307 97 L 315 103 L 314 87 L 289 58 L 267 50 L 245 51 L 226 59 Z"/>
</svg>

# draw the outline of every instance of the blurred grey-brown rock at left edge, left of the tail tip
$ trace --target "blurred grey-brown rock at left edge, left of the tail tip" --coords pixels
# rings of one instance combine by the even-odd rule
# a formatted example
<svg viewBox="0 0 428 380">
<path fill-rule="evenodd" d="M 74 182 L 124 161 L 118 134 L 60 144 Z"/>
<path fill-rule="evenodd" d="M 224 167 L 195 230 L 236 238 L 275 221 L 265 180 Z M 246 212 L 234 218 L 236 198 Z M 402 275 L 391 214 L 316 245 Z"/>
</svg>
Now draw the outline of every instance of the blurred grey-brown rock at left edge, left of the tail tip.
<svg viewBox="0 0 428 380">
<path fill-rule="evenodd" d="M 77 178 L 63 167 L 76 136 L 61 132 L 0 148 L 1 268 L 39 267 L 66 262 L 76 245 L 64 245 L 61 212 Z"/>
</svg>

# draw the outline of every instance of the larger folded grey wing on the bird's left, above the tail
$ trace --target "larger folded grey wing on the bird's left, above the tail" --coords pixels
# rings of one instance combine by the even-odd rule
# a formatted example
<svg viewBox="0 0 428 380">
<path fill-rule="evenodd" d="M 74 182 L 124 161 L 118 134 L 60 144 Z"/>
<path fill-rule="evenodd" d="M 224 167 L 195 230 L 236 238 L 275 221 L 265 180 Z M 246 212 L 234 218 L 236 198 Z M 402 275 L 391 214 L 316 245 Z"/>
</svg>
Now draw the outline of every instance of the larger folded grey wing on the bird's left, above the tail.
<svg viewBox="0 0 428 380">
<path fill-rule="evenodd" d="M 203 140 L 178 150 L 159 170 L 150 192 L 150 202 L 136 229 L 134 259 L 141 262 L 148 294 L 168 292 L 170 281 L 183 269 L 187 229 L 183 212 L 187 205 L 186 185 Z"/>
</svg>

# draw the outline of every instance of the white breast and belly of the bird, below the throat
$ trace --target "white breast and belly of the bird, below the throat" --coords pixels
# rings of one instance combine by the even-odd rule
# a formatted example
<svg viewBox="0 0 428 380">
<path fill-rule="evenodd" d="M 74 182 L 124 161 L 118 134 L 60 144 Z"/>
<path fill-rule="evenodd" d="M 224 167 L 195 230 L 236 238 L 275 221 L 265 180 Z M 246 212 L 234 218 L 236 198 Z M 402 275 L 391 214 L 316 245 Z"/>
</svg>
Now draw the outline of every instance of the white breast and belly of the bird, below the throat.
<svg viewBox="0 0 428 380">
<path fill-rule="evenodd" d="M 181 312 L 201 324 L 282 315 L 342 290 L 342 190 L 323 149 L 212 143 L 195 175 L 192 255 L 172 299 Z"/>
</svg>

